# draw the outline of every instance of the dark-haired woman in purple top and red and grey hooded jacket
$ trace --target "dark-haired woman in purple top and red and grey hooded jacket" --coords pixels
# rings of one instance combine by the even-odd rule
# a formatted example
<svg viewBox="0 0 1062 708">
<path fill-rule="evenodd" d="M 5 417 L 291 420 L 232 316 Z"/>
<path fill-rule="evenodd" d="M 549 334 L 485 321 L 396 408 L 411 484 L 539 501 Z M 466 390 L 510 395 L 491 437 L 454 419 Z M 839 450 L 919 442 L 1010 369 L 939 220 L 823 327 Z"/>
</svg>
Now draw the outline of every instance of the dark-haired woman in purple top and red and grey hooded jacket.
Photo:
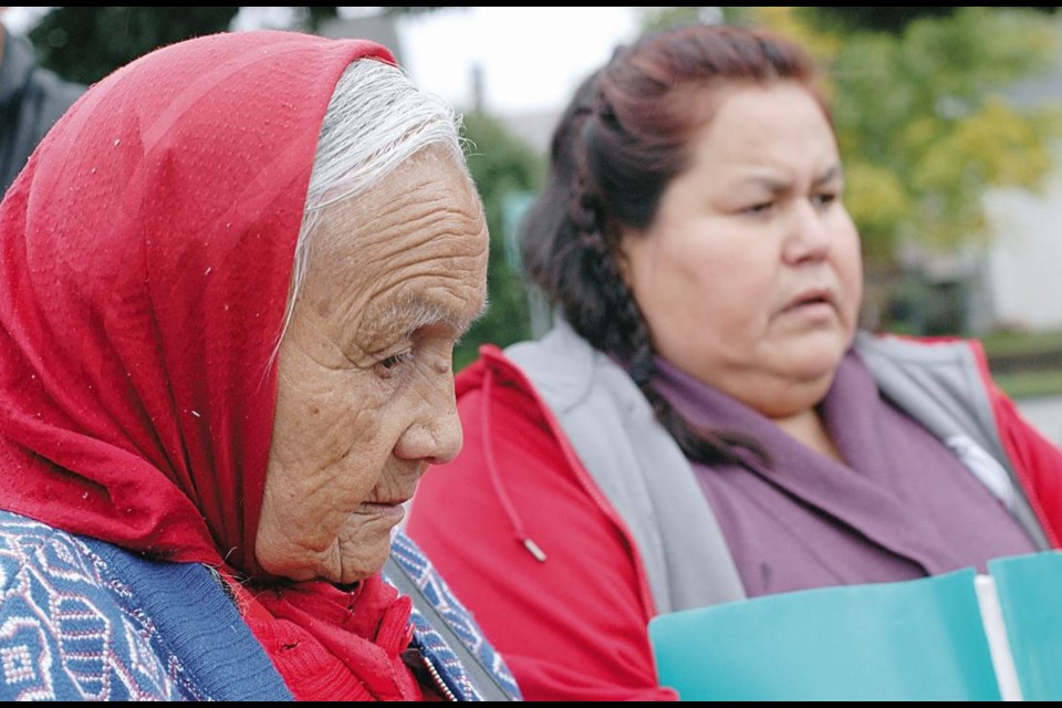
<svg viewBox="0 0 1062 708">
<path fill-rule="evenodd" d="M 462 372 L 408 525 L 529 699 L 674 698 L 659 613 L 1059 543 L 1062 455 L 981 350 L 857 333 L 843 191 L 774 37 L 646 38 L 569 107 L 524 233 L 561 316 Z"/>
</svg>

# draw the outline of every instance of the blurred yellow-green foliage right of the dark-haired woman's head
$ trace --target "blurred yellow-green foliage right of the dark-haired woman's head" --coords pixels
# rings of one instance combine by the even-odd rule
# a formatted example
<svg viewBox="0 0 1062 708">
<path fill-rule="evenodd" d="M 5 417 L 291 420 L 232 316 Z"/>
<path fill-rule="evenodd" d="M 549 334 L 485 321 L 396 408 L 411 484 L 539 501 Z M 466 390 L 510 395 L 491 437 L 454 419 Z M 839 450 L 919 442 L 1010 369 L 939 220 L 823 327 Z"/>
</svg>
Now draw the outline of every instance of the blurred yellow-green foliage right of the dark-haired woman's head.
<svg viewBox="0 0 1062 708">
<path fill-rule="evenodd" d="M 930 251 L 982 239 L 988 188 L 1040 185 L 1059 110 L 1020 108 L 1006 92 L 1050 66 L 1055 40 L 1042 14 L 998 8 L 845 38 L 830 72 L 834 121 L 868 257 L 902 239 Z"/>
</svg>

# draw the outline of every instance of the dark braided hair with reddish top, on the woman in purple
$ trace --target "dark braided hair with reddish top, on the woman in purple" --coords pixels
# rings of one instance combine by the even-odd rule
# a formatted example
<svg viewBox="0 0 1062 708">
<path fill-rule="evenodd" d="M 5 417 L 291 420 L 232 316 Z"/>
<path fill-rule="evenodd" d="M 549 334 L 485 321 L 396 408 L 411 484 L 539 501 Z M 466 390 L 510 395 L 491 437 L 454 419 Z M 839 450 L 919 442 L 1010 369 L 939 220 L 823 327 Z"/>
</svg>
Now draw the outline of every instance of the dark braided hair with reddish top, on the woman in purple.
<svg viewBox="0 0 1062 708">
<path fill-rule="evenodd" d="M 656 391 L 655 347 L 620 273 L 620 240 L 624 228 L 652 225 L 665 189 L 689 167 L 688 142 L 706 117 L 699 97 L 778 81 L 806 86 L 829 119 L 811 59 L 778 37 L 699 24 L 618 49 L 561 116 L 548 184 L 523 226 L 531 280 L 583 339 L 626 362 L 686 457 L 708 465 L 742 462 L 742 449 L 769 459 L 750 436 L 693 426 Z"/>
</svg>

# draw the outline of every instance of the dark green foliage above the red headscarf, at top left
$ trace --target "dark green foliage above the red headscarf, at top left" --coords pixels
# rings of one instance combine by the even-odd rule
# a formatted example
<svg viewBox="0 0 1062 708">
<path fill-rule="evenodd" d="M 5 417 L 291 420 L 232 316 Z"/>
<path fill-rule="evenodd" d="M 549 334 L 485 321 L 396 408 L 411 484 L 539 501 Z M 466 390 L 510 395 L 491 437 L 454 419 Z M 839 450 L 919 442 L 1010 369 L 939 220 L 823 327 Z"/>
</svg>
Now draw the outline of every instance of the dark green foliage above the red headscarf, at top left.
<svg viewBox="0 0 1062 708">
<path fill-rule="evenodd" d="M 235 8 L 53 8 L 30 31 L 41 65 L 90 84 L 165 44 L 223 32 Z"/>
</svg>

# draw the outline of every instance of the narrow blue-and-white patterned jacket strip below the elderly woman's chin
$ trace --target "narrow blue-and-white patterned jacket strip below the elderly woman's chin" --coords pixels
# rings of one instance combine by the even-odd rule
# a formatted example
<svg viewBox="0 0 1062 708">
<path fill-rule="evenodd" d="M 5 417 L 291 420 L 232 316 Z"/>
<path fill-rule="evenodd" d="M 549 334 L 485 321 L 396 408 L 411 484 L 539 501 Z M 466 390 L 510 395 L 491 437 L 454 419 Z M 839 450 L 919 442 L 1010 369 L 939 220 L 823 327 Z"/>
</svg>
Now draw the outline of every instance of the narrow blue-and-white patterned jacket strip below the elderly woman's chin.
<svg viewBox="0 0 1062 708">
<path fill-rule="evenodd" d="M 465 646 L 472 652 L 485 667 L 488 667 L 498 683 L 514 699 L 520 699 L 520 689 L 501 655 L 487 642 L 482 629 L 476 624 L 435 566 L 425 558 L 420 549 L 406 537 L 398 533 L 392 542 L 392 555 L 416 581 L 425 597 L 431 602 L 447 625 L 460 637 Z M 426 659 L 439 669 L 439 674 L 458 700 L 482 700 L 472 685 L 454 650 L 428 621 L 414 606 L 412 622 L 415 627 L 414 642 Z"/>
</svg>

